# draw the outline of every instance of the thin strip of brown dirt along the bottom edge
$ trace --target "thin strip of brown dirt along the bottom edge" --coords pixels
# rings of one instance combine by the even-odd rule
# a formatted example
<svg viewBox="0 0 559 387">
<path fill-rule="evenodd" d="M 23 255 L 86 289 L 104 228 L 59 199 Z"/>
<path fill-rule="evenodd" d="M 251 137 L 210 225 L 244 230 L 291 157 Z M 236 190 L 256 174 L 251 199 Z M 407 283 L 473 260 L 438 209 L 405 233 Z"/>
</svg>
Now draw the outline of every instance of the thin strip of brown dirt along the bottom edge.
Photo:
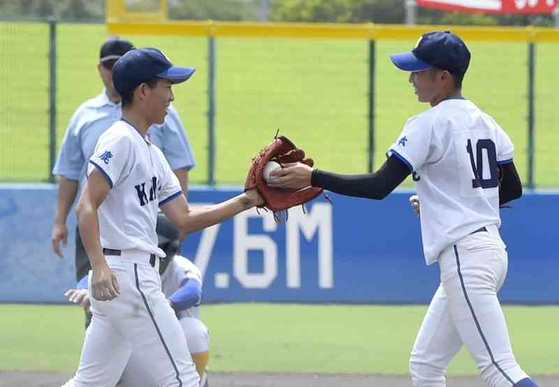
<svg viewBox="0 0 559 387">
<path fill-rule="evenodd" d="M 59 387 L 70 375 L 53 372 L 0 372 L 0 387 Z M 559 386 L 559 377 L 535 378 L 540 387 Z M 407 387 L 409 377 L 381 375 L 265 374 L 212 372 L 210 387 Z M 479 377 L 449 377 L 449 387 L 484 387 Z"/>
</svg>

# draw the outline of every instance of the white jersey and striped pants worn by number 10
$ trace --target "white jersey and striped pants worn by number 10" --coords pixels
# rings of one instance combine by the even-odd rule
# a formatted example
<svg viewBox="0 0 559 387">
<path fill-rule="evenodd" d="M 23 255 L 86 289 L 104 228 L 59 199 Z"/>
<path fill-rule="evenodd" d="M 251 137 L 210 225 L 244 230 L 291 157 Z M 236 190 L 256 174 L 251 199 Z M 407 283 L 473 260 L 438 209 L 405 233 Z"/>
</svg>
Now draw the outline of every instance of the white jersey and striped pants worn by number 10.
<svg viewBox="0 0 559 387">
<path fill-rule="evenodd" d="M 414 386 L 445 386 L 447 365 L 463 345 L 489 386 L 510 387 L 527 377 L 497 298 L 507 275 L 497 166 L 510 163 L 513 153 L 495 120 L 465 98 L 409 119 L 389 149 L 414 171 L 423 251 L 441 270 L 410 358 Z"/>
</svg>

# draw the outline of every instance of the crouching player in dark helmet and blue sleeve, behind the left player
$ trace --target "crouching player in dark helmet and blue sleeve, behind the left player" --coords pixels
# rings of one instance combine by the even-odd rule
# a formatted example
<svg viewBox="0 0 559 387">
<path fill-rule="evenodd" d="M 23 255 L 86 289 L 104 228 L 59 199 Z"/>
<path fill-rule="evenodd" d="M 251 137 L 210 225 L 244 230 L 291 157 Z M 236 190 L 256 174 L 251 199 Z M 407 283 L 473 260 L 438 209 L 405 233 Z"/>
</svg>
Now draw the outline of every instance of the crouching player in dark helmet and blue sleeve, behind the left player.
<svg viewBox="0 0 559 387">
<path fill-rule="evenodd" d="M 200 386 L 208 387 L 208 375 L 205 372 L 210 360 L 210 333 L 200 320 L 200 304 L 202 299 L 202 275 L 196 265 L 177 255 L 180 250 L 178 230 L 170 224 L 165 214 L 157 215 L 157 243 L 166 254 L 159 263 L 161 275 L 161 290 L 169 301 L 182 326 L 190 356 L 200 375 Z M 75 302 L 89 311 L 89 291 L 87 290 L 87 275 L 80 279 L 76 289 L 68 289 L 66 295 L 71 302 Z M 138 366 L 137 356 L 131 356 L 124 368 L 119 387 L 151 387 L 156 382 Z"/>
</svg>

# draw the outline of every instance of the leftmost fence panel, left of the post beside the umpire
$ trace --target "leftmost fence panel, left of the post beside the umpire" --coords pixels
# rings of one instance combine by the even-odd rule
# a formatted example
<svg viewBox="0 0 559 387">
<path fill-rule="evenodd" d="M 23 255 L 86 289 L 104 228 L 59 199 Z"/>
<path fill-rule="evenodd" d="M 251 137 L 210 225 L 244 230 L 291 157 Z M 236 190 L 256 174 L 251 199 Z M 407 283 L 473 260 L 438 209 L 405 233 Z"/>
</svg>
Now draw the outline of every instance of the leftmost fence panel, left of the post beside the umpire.
<svg viewBox="0 0 559 387">
<path fill-rule="evenodd" d="M 0 23 L 0 179 L 49 177 L 49 25 Z"/>
</svg>

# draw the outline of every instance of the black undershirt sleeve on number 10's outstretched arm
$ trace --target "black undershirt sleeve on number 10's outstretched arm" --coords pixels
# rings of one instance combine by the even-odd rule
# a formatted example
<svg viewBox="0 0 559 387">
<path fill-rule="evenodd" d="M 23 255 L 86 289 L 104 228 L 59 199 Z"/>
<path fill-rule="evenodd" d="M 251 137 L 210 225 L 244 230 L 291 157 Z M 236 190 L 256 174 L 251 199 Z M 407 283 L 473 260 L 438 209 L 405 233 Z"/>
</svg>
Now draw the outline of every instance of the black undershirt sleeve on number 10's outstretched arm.
<svg viewBox="0 0 559 387">
<path fill-rule="evenodd" d="M 338 175 L 315 169 L 312 171 L 311 184 L 345 196 L 380 200 L 390 194 L 411 170 L 398 159 L 390 156 L 375 173 L 363 175 Z"/>
</svg>

